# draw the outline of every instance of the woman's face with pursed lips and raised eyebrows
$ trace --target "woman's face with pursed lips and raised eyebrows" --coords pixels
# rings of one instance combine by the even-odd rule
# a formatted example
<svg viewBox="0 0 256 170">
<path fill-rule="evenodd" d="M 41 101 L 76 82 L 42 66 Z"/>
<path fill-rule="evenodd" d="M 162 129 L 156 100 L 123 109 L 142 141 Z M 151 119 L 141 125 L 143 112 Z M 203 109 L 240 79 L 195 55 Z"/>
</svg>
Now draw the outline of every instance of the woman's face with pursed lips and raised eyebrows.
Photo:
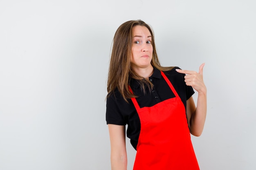
<svg viewBox="0 0 256 170">
<path fill-rule="evenodd" d="M 146 26 L 134 26 L 132 35 L 131 67 L 138 69 L 151 66 L 153 46 L 151 44 L 152 36 L 148 28 Z"/>
</svg>

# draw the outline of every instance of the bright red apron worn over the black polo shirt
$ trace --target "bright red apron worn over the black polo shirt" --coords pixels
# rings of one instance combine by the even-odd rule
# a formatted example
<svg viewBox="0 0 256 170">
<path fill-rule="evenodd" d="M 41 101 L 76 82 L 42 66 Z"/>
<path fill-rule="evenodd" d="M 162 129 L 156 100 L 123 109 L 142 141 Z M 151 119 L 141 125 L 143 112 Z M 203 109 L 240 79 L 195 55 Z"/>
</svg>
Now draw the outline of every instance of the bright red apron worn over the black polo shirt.
<svg viewBox="0 0 256 170">
<path fill-rule="evenodd" d="M 161 74 L 174 98 L 143 108 L 132 98 L 141 123 L 133 170 L 199 170 L 184 104 L 166 75 Z"/>
</svg>

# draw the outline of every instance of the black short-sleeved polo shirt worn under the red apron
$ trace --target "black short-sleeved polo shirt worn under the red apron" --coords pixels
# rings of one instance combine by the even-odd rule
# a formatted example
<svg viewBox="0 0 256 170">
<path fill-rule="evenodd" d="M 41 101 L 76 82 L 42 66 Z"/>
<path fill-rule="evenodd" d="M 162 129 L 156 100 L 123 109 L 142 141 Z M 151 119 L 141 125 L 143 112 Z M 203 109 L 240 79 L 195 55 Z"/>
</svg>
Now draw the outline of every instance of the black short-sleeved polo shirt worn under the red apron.
<svg viewBox="0 0 256 170">
<path fill-rule="evenodd" d="M 186 100 L 195 92 L 191 86 L 186 86 L 186 83 L 184 82 L 184 74 L 177 73 L 177 71 L 175 71 L 176 68 L 173 68 L 171 71 L 164 71 L 164 74 L 170 80 L 171 84 L 173 84 L 173 87 L 177 91 L 186 108 Z M 140 108 L 154 106 L 159 102 L 175 97 L 171 88 L 168 86 L 164 77 L 162 77 L 161 72 L 157 68 L 154 68 L 153 75 L 149 77 L 149 80 L 154 86 L 153 90 L 146 88 L 146 94 L 141 90 L 136 79 L 131 79 L 130 82 L 132 92 L 139 96 L 136 100 Z M 127 137 L 130 138 L 132 146 L 136 149 L 141 125 L 139 115 L 132 103 L 132 100 L 128 99 L 127 103 L 119 91 L 116 90 L 115 95 L 112 93 L 112 95 L 107 98 L 106 106 L 107 124 L 127 124 Z"/>
</svg>

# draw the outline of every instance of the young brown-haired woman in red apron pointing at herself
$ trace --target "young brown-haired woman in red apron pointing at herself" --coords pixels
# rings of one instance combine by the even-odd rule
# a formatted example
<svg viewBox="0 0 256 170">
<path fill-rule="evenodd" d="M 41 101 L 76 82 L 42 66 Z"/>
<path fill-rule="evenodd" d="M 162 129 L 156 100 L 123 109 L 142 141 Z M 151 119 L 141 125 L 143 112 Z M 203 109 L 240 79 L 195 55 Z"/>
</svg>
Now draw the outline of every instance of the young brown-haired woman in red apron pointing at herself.
<svg viewBox="0 0 256 170">
<path fill-rule="evenodd" d="M 137 150 L 133 170 L 199 170 L 190 133 L 200 136 L 206 118 L 203 66 L 198 73 L 162 67 L 148 24 L 132 20 L 119 26 L 106 109 L 112 170 L 127 169 L 126 124 L 127 137 Z M 193 88 L 198 91 L 197 106 Z"/>
</svg>

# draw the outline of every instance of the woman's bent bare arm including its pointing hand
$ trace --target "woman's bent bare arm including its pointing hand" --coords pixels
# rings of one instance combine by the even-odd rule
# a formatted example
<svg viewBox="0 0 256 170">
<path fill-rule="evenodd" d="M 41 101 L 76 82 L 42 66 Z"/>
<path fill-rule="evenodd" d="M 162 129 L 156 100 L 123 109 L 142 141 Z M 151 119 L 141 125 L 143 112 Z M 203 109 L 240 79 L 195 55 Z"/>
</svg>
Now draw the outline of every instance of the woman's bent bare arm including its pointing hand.
<svg viewBox="0 0 256 170">
<path fill-rule="evenodd" d="M 200 66 L 198 73 L 196 71 L 176 69 L 178 73 L 186 74 L 186 85 L 192 86 L 198 92 L 197 106 L 195 106 L 193 97 L 190 97 L 186 101 L 186 114 L 189 130 L 194 136 L 200 136 L 202 134 L 207 112 L 207 89 L 203 81 L 203 67 L 204 64 Z"/>
</svg>

